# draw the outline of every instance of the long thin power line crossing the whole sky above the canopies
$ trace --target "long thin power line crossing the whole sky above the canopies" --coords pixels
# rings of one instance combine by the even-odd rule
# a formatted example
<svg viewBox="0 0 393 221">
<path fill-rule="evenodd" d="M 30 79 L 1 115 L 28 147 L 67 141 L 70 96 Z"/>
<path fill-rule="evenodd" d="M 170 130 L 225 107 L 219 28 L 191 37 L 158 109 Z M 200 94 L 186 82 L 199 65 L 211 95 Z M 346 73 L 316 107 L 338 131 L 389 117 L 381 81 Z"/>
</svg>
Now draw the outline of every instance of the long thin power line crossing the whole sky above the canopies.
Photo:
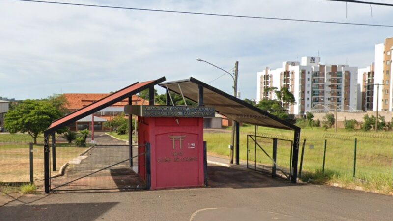
<svg viewBox="0 0 393 221">
<path fill-rule="evenodd" d="M 109 5 L 77 4 L 77 3 L 56 2 L 56 1 L 39 1 L 39 0 L 14 0 L 14 1 L 26 1 L 26 2 L 37 2 L 37 3 L 74 5 L 74 6 L 88 6 L 88 7 L 99 7 L 99 8 L 128 9 L 128 10 L 151 11 L 151 12 L 168 12 L 168 13 L 178 13 L 178 14 L 210 15 L 210 16 L 233 17 L 233 18 L 269 19 L 269 20 L 282 20 L 282 21 L 293 21 L 293 22 L 310 22 L 310 23 L 356 25 L 356 26 L 374 26 L 374 27 L 390 27 L 390 28 L 393 27 L 393 25 L 333 22 L 333 21 L 306 20 L 306 19 L 287 19 L 287 18 L 259 17 L 259 16 L 247 16 L 247 15 L 214 14 L 214 13 L 201 13 L 201 12 L 190 12 L 190 11 L 172 11 L 172 10 L 159 10 L 159 9 L 146 9 L 146 8 L 118 7 L 118 6 L 109 6 Z"/>
</svg>

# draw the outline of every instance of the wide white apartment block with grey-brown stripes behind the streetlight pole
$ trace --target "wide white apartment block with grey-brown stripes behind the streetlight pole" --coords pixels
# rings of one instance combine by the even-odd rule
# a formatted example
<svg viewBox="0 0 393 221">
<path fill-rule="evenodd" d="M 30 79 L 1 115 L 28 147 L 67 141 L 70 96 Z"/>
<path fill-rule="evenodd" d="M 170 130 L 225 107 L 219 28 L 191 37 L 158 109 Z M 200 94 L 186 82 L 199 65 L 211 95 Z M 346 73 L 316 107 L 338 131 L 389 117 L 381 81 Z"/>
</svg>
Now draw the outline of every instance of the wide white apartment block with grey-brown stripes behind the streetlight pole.
<svg viewBox="0 0 393 221">
<path fill-rule="evenodd" d="M 265 68 L 257 72 L 256 101 L 276 99 L 269 87 L 288 87 L 296 104 L 291 114 L 334 109 L 337 101 L 341 110 L 356 110 L 358 68 L 348 65 L 321 65 L 320 57 L 302 57 L 301 62 L 286 61 L 281 68 Z M 333 104 L 333 105 L 332 105 Z"/>
</svg>

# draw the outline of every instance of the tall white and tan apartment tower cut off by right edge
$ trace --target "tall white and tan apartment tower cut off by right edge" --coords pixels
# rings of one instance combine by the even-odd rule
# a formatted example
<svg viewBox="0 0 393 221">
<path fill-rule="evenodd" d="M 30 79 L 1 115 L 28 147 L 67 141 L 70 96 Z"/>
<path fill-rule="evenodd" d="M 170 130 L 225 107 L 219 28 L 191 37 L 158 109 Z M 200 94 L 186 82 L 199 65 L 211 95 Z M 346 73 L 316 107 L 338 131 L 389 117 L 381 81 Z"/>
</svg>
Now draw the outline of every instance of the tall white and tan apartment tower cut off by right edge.
<svg viewBox="0 0 393 221">
<path fill-rule="evenodd" d="M 393 37 L 375 45 L 373 111 L 393 111 Z M 379 88 L 379 90 L 377 90 Z M 378 97 L 378 102 L 377 102 Z M 378 107 L 377 107 L 378 103 Z"/>
</svg>

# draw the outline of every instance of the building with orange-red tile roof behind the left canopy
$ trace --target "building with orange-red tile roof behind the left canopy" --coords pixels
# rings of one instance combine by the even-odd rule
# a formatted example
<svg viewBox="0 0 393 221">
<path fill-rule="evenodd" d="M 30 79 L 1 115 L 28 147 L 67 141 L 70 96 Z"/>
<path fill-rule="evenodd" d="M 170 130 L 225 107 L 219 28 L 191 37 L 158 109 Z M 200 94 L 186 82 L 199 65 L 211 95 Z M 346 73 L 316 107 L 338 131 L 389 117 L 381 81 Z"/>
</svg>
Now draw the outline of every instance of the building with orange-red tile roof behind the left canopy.
<svg viewBox="0 0 393 221">
<path fill-rule="evenodd" d="M 110 94 L 63 94 L 68 103 L 66 108 L 70 112 L 81 109 L 108 95 Z M 137 95 L 133 95 L 132 104 L 148 105 L 149 101 L 144 100 Z M 110 107 L 104 108 L 103 110 L 94 113 L 94 131 L 109 131 L 109 128 L 104 127 L 104 122 L 110 121 L 113 117 L 123 113 L 124 105 L 128 105 L 128 99 L 117 102 Z M 71 131 L 84 129 L 91 130 L 91 115 L 70 124 L 68 127 Z"/>
</svg>

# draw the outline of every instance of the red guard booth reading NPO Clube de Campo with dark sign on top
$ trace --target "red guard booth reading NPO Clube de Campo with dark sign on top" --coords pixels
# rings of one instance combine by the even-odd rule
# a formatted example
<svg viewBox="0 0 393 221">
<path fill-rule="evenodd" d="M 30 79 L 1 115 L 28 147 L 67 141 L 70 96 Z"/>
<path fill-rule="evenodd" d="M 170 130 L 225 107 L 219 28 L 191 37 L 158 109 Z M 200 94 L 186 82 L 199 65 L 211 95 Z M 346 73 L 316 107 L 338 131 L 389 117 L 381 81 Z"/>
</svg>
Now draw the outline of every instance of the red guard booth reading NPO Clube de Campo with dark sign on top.
<svg viewBox="0 0 393 221">
<path fill-rule="evenodd" d="M 150 143 L 150 189 L 204 186 L 206 153 L 203 117 L 214 117 L 212 107 L 137 106 L 139 154 Z M 147 182 L 146 158 L 138 158 L 138 175 Z"/>
</svg>

